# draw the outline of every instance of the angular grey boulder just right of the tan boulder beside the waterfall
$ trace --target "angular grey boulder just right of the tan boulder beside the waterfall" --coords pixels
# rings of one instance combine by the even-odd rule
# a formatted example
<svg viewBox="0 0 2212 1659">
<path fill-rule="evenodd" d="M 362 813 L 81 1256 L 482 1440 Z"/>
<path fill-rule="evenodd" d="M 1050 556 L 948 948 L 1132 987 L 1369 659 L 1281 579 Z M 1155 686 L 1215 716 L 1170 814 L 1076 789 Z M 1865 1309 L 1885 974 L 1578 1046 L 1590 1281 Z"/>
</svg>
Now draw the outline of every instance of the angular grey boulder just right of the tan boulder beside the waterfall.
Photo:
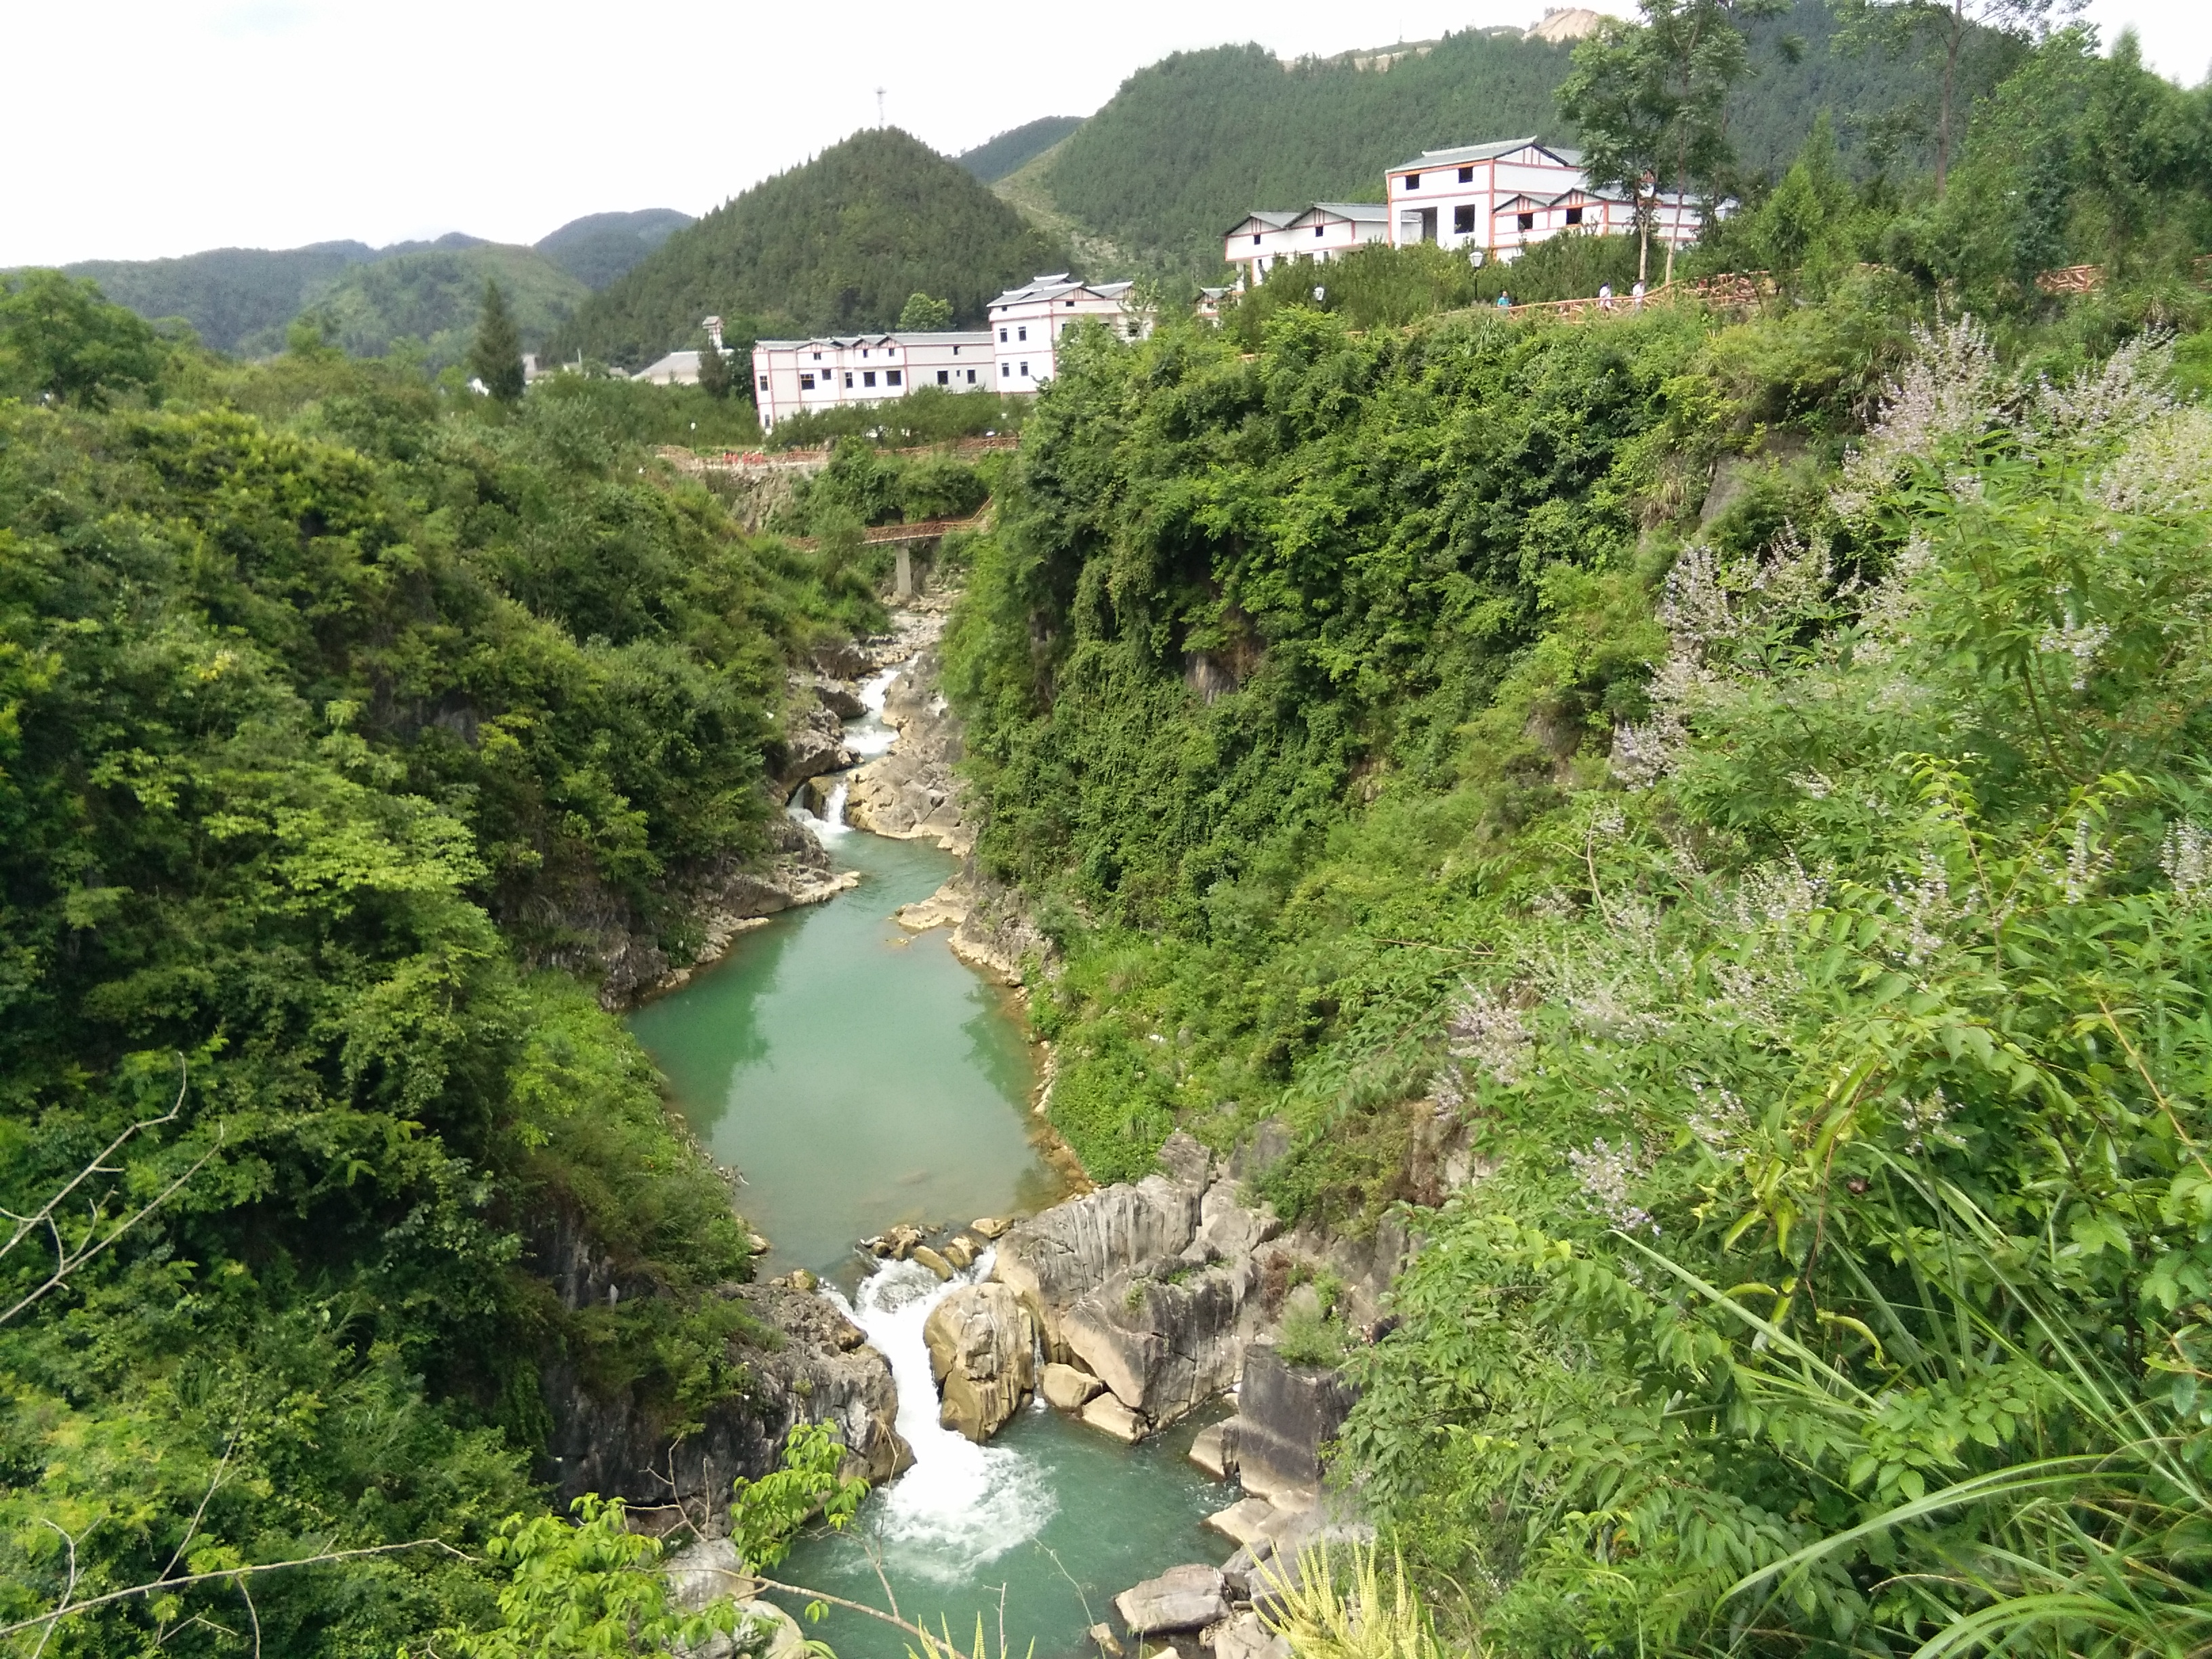
<svg viewBox="0 0 2212 1659">
<path fill-rule="evenodd" d="M 1060 1316 L 1060 1340 L 1121 1405 L 1166 1427 L 1237 1380 L 1239 1325 L 1256 1287 L 1250 1256 L 1159 1259 L 1082 1296 Z"/>
</svg>

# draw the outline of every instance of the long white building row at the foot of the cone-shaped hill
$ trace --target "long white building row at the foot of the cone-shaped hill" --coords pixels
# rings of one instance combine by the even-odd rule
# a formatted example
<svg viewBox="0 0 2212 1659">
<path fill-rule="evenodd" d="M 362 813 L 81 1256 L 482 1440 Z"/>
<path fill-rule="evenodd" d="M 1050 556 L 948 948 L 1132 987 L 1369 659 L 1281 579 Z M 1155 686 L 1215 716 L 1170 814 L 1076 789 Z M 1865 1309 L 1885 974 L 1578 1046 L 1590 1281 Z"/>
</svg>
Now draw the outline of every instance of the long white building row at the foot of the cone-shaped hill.
<svg viewBox="0 0 2212 1659">
<path fill-rule="evenodd" d="M 918 385 L 949 392 L 1035 392 L 1053 378 L 1060 336 L 1073 323 L 1097 321 L 1135 341 L 1150 323 L 1130 310 L 1130 283 L 1079 283 L 1066 272 L 1037 276 L 991 301 L 991 327 L 969 334 L 838 334 L 812 341 L 759 341 L 752 347 L 752 396 L 761 429 L 803 409 L 902 398 Z M 699 376 L 697 352 L 688 356 Z M 659 363 L 653 365 L 657 369 Z M 653 374 L 646 369 L 644 374 Z M 641 376 L 639 376 L 641 378 Z"/>
</svg>

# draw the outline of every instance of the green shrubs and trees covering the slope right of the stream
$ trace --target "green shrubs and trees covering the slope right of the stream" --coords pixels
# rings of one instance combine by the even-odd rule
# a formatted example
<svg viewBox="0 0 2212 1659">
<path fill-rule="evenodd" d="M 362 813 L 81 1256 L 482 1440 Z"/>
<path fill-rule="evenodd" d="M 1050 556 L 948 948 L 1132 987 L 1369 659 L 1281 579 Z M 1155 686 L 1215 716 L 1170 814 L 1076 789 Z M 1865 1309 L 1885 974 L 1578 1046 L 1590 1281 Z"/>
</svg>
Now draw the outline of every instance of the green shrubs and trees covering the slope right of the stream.
<svg viewBox="0 0 2212 1659">
<path fill-rule="evenodd" d="M 1340 1469 L 1453 1644 L 2212 1632 L 2205 179 L 2057 35 L 1940 197 L 1816 135 L 1747 314 L 1385 257 L 1037 400 L 947 655 L 1053 1119 L 1431 1206 Z"/>
</svg>

